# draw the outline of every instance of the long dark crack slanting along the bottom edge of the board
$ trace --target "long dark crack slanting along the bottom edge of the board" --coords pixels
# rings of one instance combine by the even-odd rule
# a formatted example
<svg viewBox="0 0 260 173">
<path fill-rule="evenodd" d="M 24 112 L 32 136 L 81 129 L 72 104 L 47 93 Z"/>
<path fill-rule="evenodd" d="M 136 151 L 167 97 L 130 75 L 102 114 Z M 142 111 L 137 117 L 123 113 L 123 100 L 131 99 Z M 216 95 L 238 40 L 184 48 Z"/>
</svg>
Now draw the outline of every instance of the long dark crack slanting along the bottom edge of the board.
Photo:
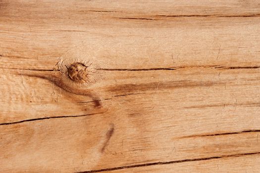
<svg viewBox="0 0 260 173">
<path fill-rule="evenodd" d="M 185 160 L 177 160 L 177 161 L 170 161 L 170 162 L 155 162 L 155 163 L 148 163 L 148 164 L 107 168 L 107 169 L 101 169 L 101 170 L 91 170 L 91 171 L 84 171 L 84 172 L 78 172 L 78 173 L 100 173 L 100 172 L 123 170 L 123 169 L 138 168 L 138 167 L 147 167 L 147 166 L 155 166 L 155 165 L 169 165 L 169 164 L 176 164 L 176 163 L 183 163 L 183 162 L 196 162 L 196 161 L 204 161 L 204 160 L 212 160 L 212 159 L 221 159 L 221 158 L 227 158 L 227 157 L 242 157 L 242 156 L 255 155 L 255 154 L 260 154 L 260 152 L 242 153 L 242 154 L 233 154 L 233 155 L 222 155 L 222 156 L 198 158 L 198 159 L 185 159 Z"/>
</svg>

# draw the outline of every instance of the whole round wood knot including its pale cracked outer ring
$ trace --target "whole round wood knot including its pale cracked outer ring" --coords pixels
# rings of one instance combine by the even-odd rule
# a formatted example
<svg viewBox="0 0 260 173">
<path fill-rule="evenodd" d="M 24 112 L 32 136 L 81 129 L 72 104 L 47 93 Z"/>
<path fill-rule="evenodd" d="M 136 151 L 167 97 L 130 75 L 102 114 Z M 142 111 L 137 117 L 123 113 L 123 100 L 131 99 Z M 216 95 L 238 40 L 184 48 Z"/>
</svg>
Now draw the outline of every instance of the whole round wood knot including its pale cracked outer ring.
<svg viewBox="0 0 260 173">
<path fill-rule="evenodd" d="M 59 86 L 72 93 L 86 93 L 101 80 L 103 75 L 99 69 L 96 59 L 91 54 L 68 51 L 57 63 Z"/>
</svg>

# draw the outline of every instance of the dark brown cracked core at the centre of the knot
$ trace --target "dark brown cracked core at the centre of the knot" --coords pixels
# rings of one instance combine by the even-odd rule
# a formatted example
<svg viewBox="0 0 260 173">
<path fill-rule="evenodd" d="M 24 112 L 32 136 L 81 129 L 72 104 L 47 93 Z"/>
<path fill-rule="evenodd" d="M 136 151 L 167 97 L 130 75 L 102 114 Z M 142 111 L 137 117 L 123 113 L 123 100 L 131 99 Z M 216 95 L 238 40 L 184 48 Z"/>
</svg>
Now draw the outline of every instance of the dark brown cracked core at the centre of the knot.
<svg viewBox="0 0 260 173">
<path fill-rule="evenodd" d="M 73 63 L 68 68 L 68 76 L 72 81 L 86 83 L 88 81 L 88 75 L 88 66 L 82 63 Z"/>
</svg>

